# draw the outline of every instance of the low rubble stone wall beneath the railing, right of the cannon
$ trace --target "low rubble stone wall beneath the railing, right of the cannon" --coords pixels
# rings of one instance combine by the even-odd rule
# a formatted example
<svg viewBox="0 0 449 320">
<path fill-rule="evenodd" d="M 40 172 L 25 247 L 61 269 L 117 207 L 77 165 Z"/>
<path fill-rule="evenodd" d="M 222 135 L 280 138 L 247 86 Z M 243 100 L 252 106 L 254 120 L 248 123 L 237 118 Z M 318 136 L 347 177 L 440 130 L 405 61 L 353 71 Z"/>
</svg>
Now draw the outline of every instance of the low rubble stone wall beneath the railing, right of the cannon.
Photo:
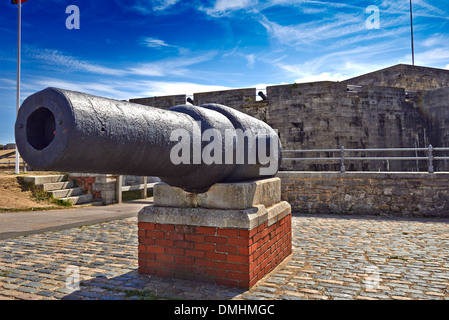
<svg viewBox="0 0 449 320">
<path fill-rule="evenodd" d="M 292 212 L 449 218 L 449 173 L 281 171 Z"/>
</svg>

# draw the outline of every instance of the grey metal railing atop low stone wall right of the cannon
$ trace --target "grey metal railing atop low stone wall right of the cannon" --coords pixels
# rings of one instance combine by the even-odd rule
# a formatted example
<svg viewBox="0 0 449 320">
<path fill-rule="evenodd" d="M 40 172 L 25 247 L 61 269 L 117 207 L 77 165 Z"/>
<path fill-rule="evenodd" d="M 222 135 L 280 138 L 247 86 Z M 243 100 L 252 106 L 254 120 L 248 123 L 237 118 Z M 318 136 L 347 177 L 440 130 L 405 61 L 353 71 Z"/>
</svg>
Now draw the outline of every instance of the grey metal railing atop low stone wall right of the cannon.
<svg viewBox="0 0 449 320">
<path fill-rule="evenodd" d="M 414 156 L 414 157 L 348 157 L 346 154 L 351 152 L 397 152 L 397 151 L 424 151 L 427 152 L 427 156 Z M 434 156 L 434 152 L 436 151 L 449 151 L 449 148 L 434 148 L 432 145 L 430 145 L 427 148 L 381 148 L 381 149 L 345 149 L 345 147 L 341 147 L 340 149 L 318 149 L 318 150 L 283 150 L 282 153 L 321 153 L 321 152 L 338 152 L 340 154 L 339 157 L 324 157 L 324 158 L 284 158 L 283 161 L 304 161 L 304 160 L 313 160 L 313 161 L 321 161 L 321 160 L 336 160 L 340 161 L 340 172 L 345 173 L 345 161 L 358 161 L 358 160 L 416 160 L 416 161 L 422 161 L 427 160 L 428 161 L 428 172 L 434 173 L 434 167 L 433 163 L 435 160 L 449 160 L 449 157 L 441 157 L 441 156 Z"/>
</svg>

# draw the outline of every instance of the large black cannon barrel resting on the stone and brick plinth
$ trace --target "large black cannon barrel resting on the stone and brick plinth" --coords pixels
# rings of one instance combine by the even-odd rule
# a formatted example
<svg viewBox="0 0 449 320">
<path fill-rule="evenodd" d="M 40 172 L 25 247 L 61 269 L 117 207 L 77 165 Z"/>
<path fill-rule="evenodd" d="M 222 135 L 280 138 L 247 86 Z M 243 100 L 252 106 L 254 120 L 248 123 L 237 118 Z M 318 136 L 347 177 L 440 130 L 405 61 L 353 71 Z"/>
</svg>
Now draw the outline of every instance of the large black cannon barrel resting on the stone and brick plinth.
<svg viewBox="0 0 449 320">
<path fill-rule="evenodd" d="M 163 110 L 57 88 L 23 102 L 15 134 L 37 170 L 155 176 L 196 193 L 274 176 L 281 159 L 271 127 L 223 105 Z"/>
</svg>

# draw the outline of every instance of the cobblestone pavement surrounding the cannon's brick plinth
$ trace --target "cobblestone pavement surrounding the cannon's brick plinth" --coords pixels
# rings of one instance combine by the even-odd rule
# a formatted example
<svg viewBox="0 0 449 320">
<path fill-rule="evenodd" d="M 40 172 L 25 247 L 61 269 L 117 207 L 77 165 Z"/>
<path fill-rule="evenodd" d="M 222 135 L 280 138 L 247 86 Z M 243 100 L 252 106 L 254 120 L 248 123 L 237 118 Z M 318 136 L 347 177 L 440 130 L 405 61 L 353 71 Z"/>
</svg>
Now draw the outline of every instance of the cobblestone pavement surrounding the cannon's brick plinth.
<svg viewBox="0 0 449 320">
<path fill-rule="evenodd" d="M 0 241 L 0 299 L 449 300 L 449 220 L 292 221 L 293 254 L 249 291 L 137 274 L 129 218 Z"/>
</svg>

